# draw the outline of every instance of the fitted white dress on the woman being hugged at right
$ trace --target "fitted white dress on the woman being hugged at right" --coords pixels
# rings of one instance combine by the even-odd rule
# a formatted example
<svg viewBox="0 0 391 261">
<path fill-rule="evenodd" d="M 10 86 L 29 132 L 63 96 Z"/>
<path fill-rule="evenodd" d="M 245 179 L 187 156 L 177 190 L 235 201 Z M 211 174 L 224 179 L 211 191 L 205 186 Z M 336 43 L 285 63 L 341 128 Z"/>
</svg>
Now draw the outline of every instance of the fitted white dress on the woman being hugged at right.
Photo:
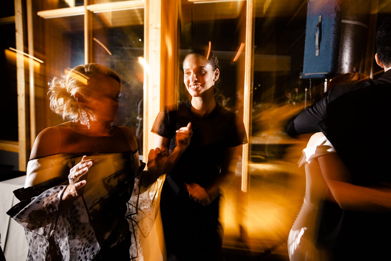
<svg viewBox="0 0 391 261">
<path fill-rule="evenodd" d="M 315 246 L 320 209 L 328 191 L 317 158 L 328 153 L 336 151 L 323 133 L 318 132 L 310 137 L 298 162 L 299 167 L 305 167 L 306 184 L 303 205 L 288 236 L 291 261 L 330 260 L 327 250 L 318 250 Z"/>
</svg>

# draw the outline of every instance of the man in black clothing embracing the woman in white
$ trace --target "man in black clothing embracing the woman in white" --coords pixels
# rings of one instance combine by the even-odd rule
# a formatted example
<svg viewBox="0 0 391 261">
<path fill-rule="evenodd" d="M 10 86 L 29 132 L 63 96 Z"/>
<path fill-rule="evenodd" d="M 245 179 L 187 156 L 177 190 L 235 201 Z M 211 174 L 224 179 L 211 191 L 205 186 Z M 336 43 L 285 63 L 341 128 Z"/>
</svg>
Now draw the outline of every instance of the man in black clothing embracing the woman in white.
<svg viewBox="0 0 391 261">
<path fill-rule="evenodd" d="M 390 190 L 391 18 L 376 33 L 375 60 L 385 72 L 376 80 L 341 83 L 289 122 L 291 136 L 323 132 L 348 167 L 352 184 Z M 373 206 L 378 205 L 377 199 Z M 390 260 L 391 209 L 341 210 L 325 202 L 317 246 L 335 260 Z M 334 223 L 333 223 L 334 222 Z"/>
</svg>

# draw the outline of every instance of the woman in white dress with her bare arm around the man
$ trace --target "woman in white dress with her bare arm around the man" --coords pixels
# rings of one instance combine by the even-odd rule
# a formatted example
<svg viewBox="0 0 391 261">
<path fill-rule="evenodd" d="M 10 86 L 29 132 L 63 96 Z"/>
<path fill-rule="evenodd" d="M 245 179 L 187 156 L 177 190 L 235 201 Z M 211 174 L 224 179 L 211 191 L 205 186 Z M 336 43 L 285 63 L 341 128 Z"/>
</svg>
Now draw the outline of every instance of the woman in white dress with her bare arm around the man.
<svg viewBox="0 0 391 261">
<path fill-rule="evenodd" d="M 342 74 L 333 78 L 328 87 L 365 79 L 370 78 L 359 73 Z M 323 229 L 319 231 L 319 218 L 324 202 L 335 202 L 341 212 L 391 209 L 391 189 L 353 185 L 348 169 L 321 132 L 310 137 L 298 164 L 299 167 L 305 167 L 306 189 L 303 205 L 288 236 L 291 261 L 334 260 L 332 252 L 319 243 L 325 241 L 326 234 L 331 232 Z"/>
</svg>

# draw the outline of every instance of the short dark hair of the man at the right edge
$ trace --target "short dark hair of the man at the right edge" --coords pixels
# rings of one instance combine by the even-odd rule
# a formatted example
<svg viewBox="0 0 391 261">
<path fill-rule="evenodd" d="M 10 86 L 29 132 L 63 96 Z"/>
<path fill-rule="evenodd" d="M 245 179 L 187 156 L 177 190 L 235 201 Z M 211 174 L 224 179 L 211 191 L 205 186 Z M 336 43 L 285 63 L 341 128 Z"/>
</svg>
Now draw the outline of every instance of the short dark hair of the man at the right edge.
<svg viewBox="0 0 391 261">
<path fill-rule="evenodd" d="M 376 31 L 377 57 L 386 67 L 391 67 L 391 16 Z"/>
</svg>

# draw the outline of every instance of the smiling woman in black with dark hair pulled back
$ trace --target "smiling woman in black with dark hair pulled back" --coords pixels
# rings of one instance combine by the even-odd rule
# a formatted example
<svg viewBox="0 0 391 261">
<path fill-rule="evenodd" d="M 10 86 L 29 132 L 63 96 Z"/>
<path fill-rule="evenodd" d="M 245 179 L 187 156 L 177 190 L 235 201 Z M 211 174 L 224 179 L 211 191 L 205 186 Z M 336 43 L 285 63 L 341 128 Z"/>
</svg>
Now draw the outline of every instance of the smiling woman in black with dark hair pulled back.
<svg viewBox="0 0 391 261">
<path fill-rule="evenodd" d="M 152 127 L 155 147 L 174 151 L 176 130 L 192 131 L 192 142 L 167 167 L 161 191 L 161 218 L 167 260 L 222 260 L 219 222 L 221 185 L 235 175 L 242 144 L 242 119 L 215 101 L 219 61 L 210 50 L 196 49 L 183 61 L 186 89 L 192 98 L 167 106 Z M 184 240 L 184 238 L 186 238 Z"/>
</svg>

